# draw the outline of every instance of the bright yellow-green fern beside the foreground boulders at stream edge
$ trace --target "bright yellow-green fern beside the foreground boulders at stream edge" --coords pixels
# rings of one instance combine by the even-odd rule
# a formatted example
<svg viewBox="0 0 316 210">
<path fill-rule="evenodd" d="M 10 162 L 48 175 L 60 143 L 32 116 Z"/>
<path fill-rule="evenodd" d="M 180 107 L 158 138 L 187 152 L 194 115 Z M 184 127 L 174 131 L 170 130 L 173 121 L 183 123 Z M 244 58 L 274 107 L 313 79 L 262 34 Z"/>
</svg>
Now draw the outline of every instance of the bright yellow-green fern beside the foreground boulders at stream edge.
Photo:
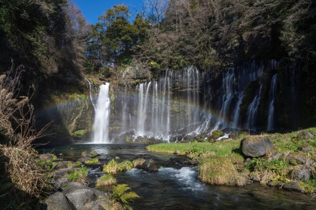
<svg viewBox="0 0 316 210">
<path fill-rule="evenodd" d="M 132 202 L 133 198 L 139 198 L 137 193 L 135 192 L 128 192 L 127 190 L 131 190 L 130 187 L 128 187 L 127 184 L 119 184 L 118 186 L 113 186 L 113 193 L 111 195 L 112 199 L 115 201 L 120 202 L 123 205 L 124 209 L 132 210 L 132 207 L 129 205 L 130 202 Z"/>
</svg>

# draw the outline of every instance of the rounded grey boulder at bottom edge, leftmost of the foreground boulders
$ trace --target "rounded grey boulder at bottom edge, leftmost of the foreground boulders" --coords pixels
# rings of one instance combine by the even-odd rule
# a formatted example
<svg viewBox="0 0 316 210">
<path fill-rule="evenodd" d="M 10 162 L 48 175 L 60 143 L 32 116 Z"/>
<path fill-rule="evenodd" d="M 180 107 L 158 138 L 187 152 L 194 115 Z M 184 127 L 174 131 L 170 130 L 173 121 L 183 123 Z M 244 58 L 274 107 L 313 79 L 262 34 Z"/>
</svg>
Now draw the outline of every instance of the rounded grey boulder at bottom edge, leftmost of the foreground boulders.
<svg viewBox="0 0 316 210">
<path fill-rule="evenodd" d="M 55 192 L 45 199 L 41 204 L 41 210 L 69 209 L 76 210 L 76 207 L 68 200 L 64 193 Z"/>
</svg>

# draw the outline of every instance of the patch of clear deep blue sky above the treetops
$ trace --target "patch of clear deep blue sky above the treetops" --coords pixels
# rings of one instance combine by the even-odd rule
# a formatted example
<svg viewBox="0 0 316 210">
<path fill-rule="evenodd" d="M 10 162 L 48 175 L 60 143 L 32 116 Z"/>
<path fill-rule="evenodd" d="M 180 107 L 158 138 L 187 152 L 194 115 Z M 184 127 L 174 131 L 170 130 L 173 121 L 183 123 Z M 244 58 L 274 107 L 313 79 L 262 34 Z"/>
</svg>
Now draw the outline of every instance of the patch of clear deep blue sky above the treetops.
<svg viewBox="0 0 316 210">
<path fill-rule="evenodd" d="M 129 6 L 131 11 L 135 13 L 133 6 L 140 8 L 143 5 L 143 0 L 73 0 L 81 10 L 86 21 L 95 24 L 98 18 L 106 9 L 111 9 L 113 5 L 124 3 Z"/>
</svg>

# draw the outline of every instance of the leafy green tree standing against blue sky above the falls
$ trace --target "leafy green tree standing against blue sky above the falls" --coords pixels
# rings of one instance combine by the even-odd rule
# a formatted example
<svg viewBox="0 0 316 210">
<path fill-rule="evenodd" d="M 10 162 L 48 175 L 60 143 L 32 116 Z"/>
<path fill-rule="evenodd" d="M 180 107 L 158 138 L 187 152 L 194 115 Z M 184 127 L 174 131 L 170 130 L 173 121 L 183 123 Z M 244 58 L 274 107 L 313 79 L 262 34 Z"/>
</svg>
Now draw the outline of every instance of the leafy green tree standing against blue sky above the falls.
<svg viewBox="0 0 316 210">
<path fill-rule="evenodd" d="M 132 48 L 143 43 L 148 22 L 137 14 L 133 23 L 130 23 L 130 13 L 126 5 L 119 4 L 107 9 L 99 17 L 86 53 L 92 66 L 99 70 L 104 66 L 117 69 L 117 65 L 131 62 Z"/>
</svg>

